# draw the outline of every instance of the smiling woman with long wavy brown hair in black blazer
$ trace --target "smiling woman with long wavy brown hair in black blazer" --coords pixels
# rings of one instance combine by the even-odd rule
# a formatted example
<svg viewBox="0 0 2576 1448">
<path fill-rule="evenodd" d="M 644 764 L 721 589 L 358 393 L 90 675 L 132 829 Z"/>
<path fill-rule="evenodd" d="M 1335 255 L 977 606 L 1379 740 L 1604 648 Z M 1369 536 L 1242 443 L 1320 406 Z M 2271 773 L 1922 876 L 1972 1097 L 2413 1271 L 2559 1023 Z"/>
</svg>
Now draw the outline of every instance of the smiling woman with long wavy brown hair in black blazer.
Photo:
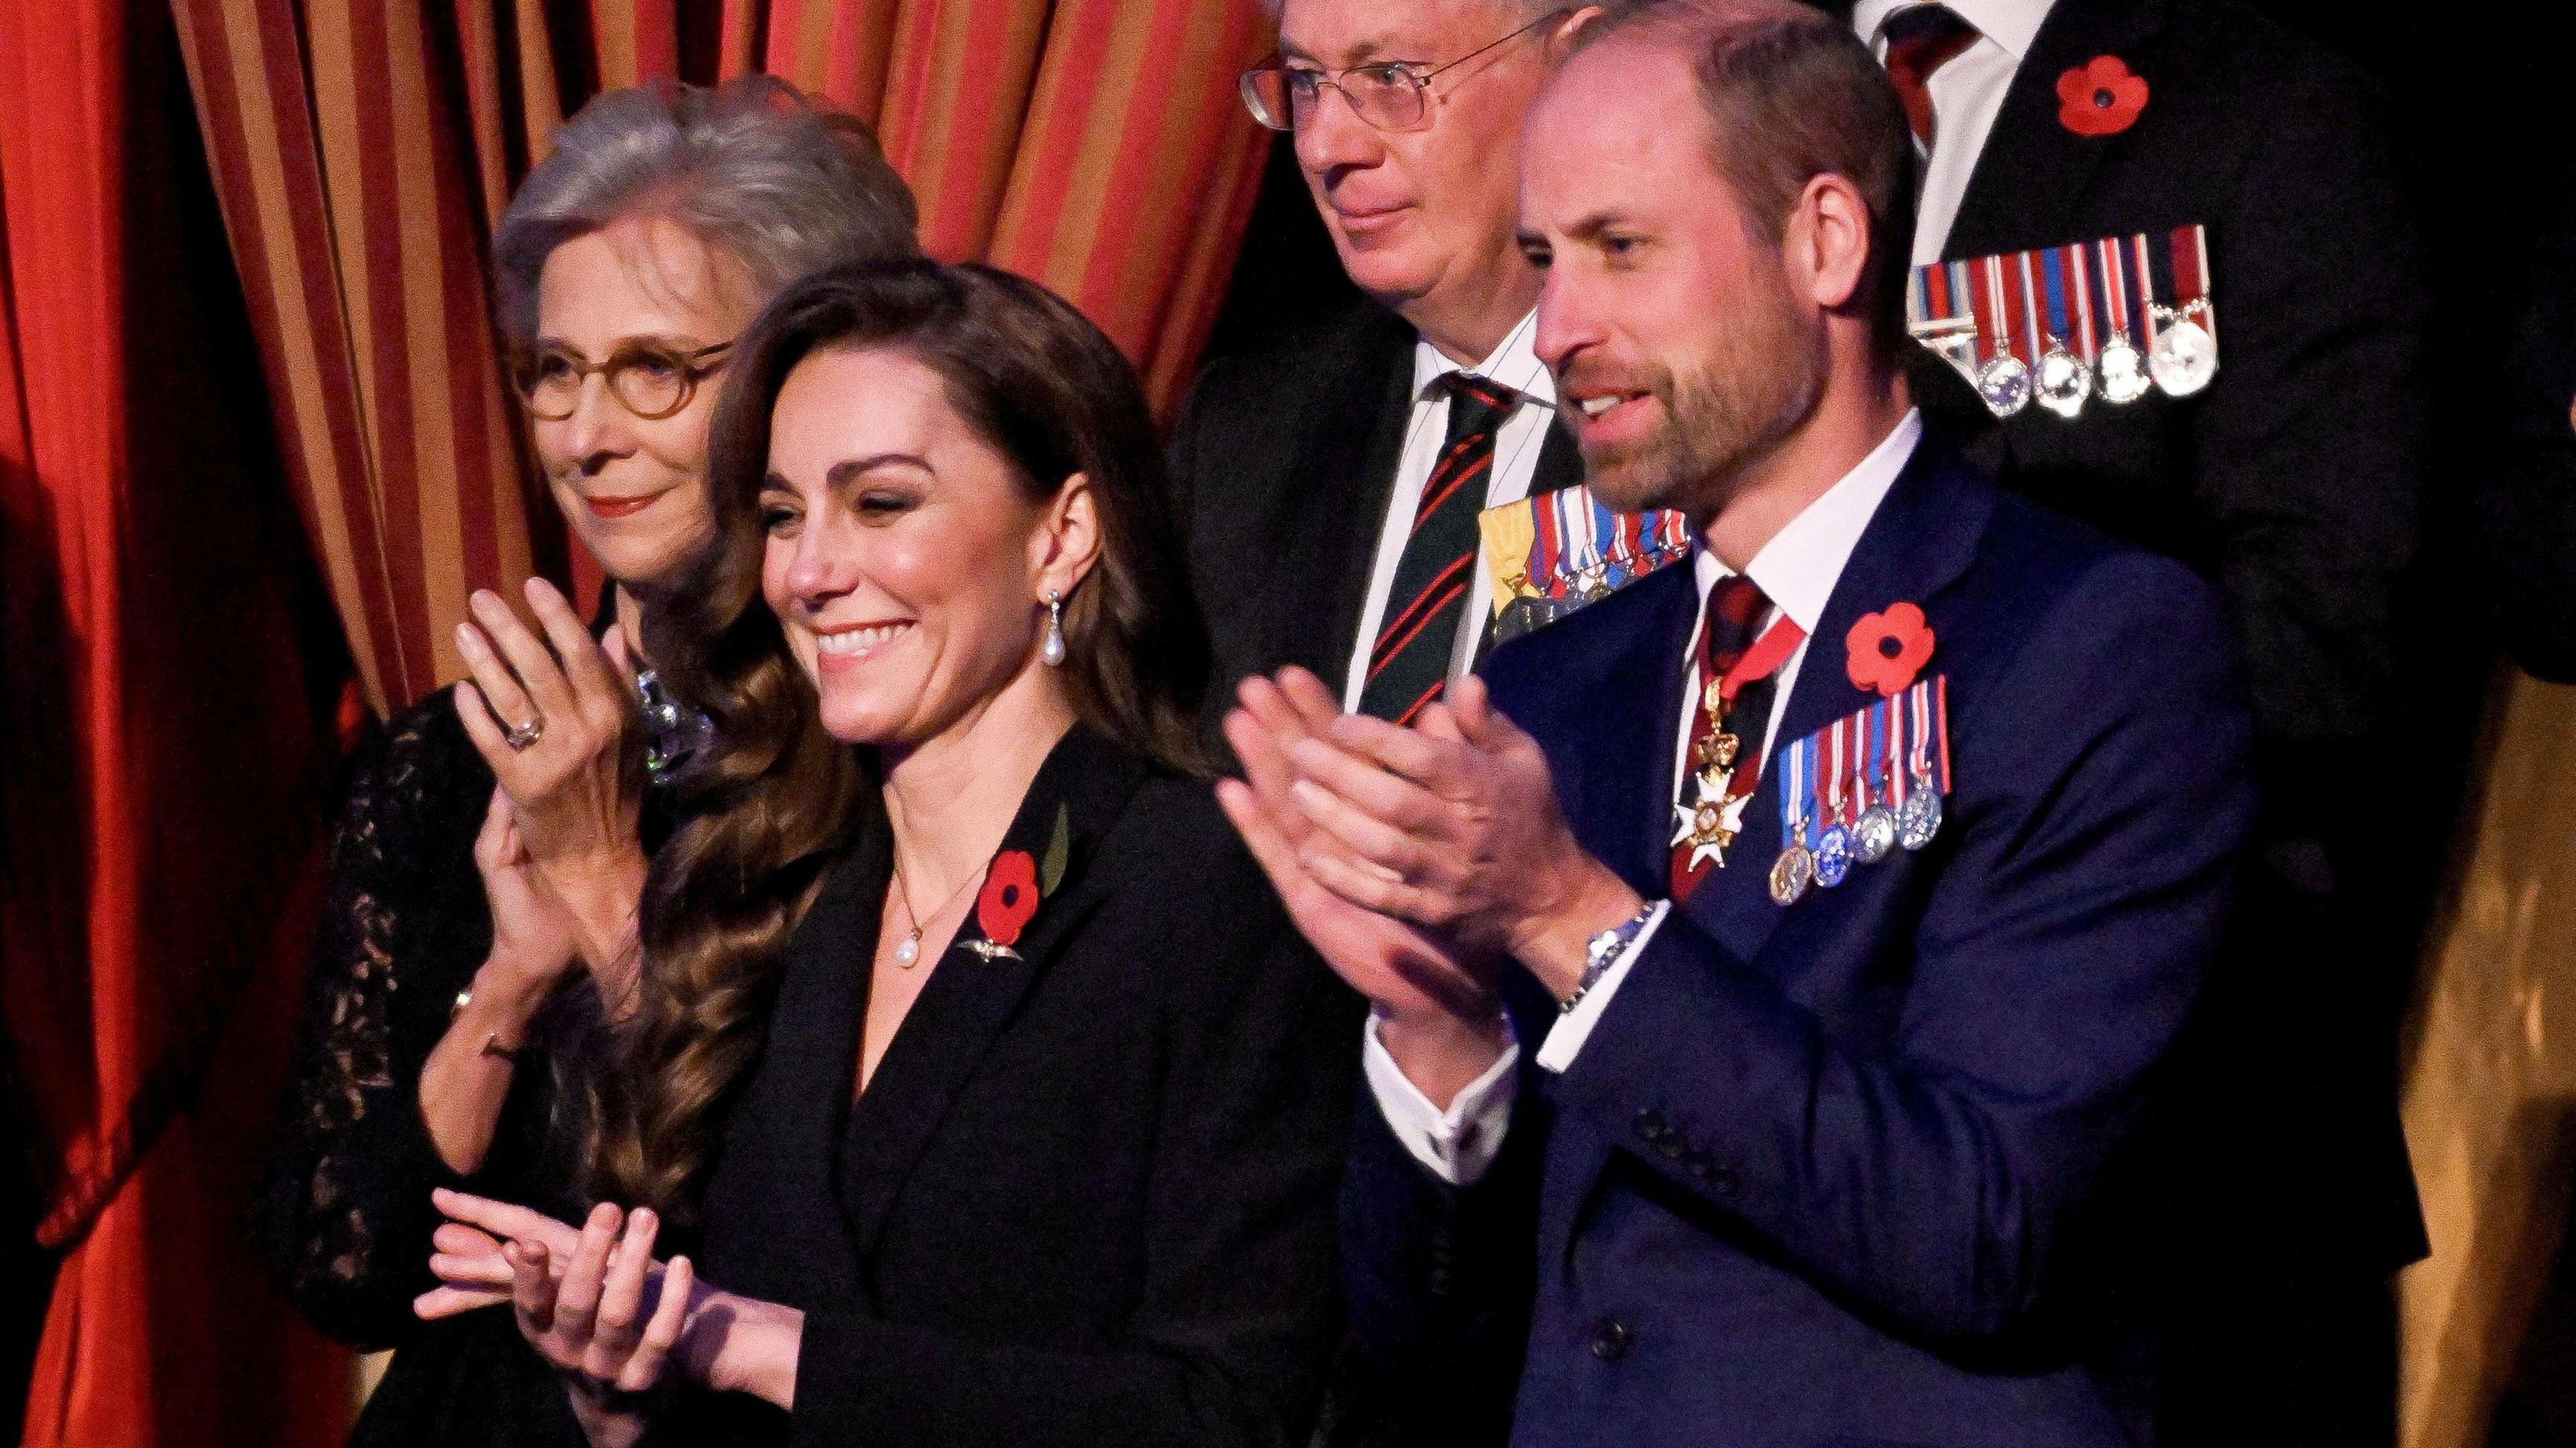
<svg viewBox="0 0 2576 1448">
<path fill-rule="evenodd" d="M 732 366 L 719 546 L 649 634 L 719 745 L 605 1201 L 440 1196 L 422 1311 L 515 1299 L 595 1445 L 1298 1443 L 1358 1002 L 1203 781 L 1133 374 L 938 263 L 806 278 Z"/>
</svg>

